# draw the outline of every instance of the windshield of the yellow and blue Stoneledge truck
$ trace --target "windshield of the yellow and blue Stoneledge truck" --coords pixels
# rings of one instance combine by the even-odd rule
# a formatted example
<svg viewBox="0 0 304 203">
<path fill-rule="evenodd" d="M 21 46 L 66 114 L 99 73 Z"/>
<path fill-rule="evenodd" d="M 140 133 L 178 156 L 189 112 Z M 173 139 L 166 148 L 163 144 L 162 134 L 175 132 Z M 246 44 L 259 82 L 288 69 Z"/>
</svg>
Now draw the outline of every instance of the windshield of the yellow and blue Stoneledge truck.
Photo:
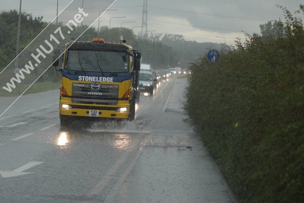
<svg viewBox="0 0 304 203">
<path fill-rule="evenodd" d="M 129 72 L 129 55 L 125 52 L 69 50 L 65 69 L 85 72 Z"/>
</svg>

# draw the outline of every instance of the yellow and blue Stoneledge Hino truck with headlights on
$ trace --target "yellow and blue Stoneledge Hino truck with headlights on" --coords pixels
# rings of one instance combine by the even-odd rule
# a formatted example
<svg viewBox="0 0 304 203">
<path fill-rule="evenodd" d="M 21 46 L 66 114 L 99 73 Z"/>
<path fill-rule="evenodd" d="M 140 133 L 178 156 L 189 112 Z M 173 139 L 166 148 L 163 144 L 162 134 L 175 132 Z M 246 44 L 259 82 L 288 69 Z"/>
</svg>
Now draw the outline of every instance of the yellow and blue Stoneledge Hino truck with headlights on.
<svg viewBox="0 0 304 203">
<path fill-rule="evenodd" d="M 93 39 L 66 44 L 60 69 L 61 125 L 75 117 L 133 120 L 139 70 L 140 53 L 125 43 Z"/>
</svg>

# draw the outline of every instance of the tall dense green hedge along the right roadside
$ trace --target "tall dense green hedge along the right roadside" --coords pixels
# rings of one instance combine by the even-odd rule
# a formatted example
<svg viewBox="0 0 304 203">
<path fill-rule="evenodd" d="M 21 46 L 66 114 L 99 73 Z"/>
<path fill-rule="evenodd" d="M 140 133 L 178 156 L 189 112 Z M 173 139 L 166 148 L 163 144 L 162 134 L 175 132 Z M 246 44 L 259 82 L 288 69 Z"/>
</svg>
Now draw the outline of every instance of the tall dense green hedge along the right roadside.
<svg viewBox="0 0 304 203">
<path fill-rule="evenodd" d="M 188 122 L 241 202 L 304 202 L 304 29 L 280 9 L 217 63 L 190 66 Z"/>
</svg>

